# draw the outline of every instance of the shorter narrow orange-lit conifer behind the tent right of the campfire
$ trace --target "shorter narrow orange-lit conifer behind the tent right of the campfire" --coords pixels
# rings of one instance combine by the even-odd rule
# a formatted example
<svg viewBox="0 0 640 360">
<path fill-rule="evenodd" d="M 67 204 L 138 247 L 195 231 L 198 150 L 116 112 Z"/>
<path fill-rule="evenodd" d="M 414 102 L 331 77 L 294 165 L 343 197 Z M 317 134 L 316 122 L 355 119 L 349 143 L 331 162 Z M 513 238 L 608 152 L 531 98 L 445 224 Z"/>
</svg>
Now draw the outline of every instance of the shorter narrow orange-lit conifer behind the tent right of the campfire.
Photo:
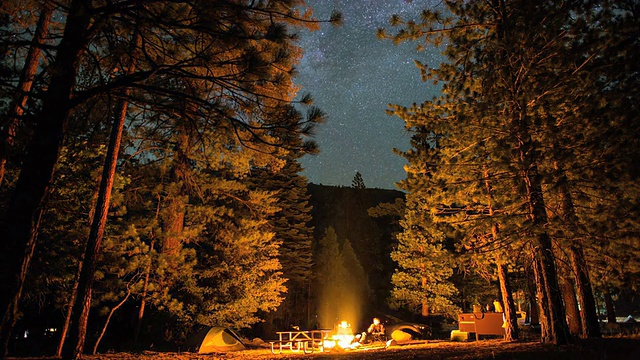
<svg viewBox="0 0 640 360">
<path fill-rule="evenodd" d="M 453 229 L 435 221 L 435 213 L 426 199 L 437 191 L 433 183 L 435 149 L 438 136 L 424 128 L 414 129 L 412 149 L 401 153 L 409 164 L 407 179 L 400 187 L 407 191 L 404 215 L 400 220 L 397 248 L 391 258 L 398 264 L 392 276 L 392 305 L 406 307 L 423 316 L 444 314 L 455 318 L 457 294 L 451 282 L 456 263 L 451 238 Z"/>
</svg>

